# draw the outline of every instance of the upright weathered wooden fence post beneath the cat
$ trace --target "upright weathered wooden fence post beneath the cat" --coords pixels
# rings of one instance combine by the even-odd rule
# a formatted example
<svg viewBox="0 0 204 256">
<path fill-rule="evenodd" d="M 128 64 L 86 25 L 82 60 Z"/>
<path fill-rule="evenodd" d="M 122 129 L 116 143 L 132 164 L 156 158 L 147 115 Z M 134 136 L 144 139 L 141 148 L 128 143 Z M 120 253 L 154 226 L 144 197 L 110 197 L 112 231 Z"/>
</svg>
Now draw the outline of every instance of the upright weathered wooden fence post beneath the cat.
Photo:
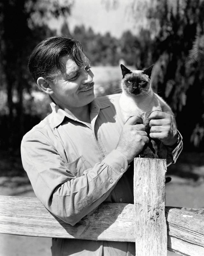
<svg viewBox="0 0 204 256">
<path fill-rule="evenodd" d="M 166 256 L 165 159 L 135 158 L 136 256 Z"/>
</svg>

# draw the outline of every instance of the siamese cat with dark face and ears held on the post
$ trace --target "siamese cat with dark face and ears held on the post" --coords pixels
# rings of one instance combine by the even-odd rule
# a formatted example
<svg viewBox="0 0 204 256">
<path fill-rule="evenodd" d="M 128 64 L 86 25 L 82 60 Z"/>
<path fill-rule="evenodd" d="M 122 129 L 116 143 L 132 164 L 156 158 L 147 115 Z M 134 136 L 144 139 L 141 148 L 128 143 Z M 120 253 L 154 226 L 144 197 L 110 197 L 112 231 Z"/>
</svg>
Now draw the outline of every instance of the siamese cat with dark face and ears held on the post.
<svg viewBox="0 0 204 256">
<path fill-rule="evenodd" d="M 120 65 L 122 70 L 122 94 L 120 97 L 120 108 L 123 121 L 126 122 L 131 116 L 138 116 L 145 125 L 145 131 L 149 137 L 149 115 L 153 111 L 169 113 L 172 118 L 171 131 L 177 133 L 174 114 L 169 105 L 151 88 L 151 72 L 153 65 L 145 70 L 129 70 Z M 167 150 L 160 140 L 149 138 L 149 143 L 139 155 L 147 158 L 163 158 L 167 156 Z"/>
</svg>

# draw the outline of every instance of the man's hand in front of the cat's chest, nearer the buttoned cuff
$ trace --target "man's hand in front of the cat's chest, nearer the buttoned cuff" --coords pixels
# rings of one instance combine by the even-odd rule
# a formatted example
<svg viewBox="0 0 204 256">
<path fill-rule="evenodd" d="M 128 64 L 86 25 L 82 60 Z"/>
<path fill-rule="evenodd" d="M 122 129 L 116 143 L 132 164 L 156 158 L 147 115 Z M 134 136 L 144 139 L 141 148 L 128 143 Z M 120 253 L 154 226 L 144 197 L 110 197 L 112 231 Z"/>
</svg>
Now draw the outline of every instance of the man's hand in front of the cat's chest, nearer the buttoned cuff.
<svg viewBox="0 0 204 256">
<path fill-rule="evenodd" d="M 142 151 L 144 145 L 149 142 L 145 126 L 141 123 L 141 118 L 131 116 L 124 124 L 120 134 L 116 149 L 126 156 L 128 164 Z"/>
</svg>

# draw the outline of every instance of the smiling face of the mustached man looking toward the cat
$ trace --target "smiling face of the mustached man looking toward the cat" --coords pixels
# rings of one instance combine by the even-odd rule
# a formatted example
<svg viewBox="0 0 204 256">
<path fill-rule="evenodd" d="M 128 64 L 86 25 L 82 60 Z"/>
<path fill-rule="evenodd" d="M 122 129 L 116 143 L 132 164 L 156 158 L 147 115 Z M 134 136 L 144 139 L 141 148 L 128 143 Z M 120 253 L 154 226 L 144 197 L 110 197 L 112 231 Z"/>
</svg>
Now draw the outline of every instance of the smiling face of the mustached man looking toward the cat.
<svg viewBox="0 0 204 256">
<path fill-rule="evenodd" d="M 51 97 L 61 108 L 83 107 L 94 99 L 94 75 L 90 69 L 90 61 L 83 53 L 81 55 L 83 67 L 77 66 L 69 56 L 61 57 L 60 61 L 66 71 L 56 77 L 55 84 L 49 84 L 53 91 Z"/>
</svg>

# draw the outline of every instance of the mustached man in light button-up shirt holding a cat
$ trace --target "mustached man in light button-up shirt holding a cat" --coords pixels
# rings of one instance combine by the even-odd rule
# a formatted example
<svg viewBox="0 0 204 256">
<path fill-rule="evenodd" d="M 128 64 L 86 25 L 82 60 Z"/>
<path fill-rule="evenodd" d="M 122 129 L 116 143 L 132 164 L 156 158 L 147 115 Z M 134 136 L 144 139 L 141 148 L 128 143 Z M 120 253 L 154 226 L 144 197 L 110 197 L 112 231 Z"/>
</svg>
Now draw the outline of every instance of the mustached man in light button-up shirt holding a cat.
<svg viewBox="0 0 204 256">
<path fill-rule="evenodd" d="M 36 196 L 71 225 L 104 201 L 133 203 L 128 165 L 149 139 L 137 117 L 123 124 L 120 94 L 94 98 L 90 61 L 73 38 L 42 41 L 31 54 L 29 70 L 53 101 L 52 113 L 21 144 Z M 160 139 L 169 162 L 175 162 L 182 142 L 171 134 L 171 117 L 155 111 L 149 118 L 150 137 Z M 52 241 L 52 255 L 135 255 L 135 244 L 60 238 Z"/>
</svg>

